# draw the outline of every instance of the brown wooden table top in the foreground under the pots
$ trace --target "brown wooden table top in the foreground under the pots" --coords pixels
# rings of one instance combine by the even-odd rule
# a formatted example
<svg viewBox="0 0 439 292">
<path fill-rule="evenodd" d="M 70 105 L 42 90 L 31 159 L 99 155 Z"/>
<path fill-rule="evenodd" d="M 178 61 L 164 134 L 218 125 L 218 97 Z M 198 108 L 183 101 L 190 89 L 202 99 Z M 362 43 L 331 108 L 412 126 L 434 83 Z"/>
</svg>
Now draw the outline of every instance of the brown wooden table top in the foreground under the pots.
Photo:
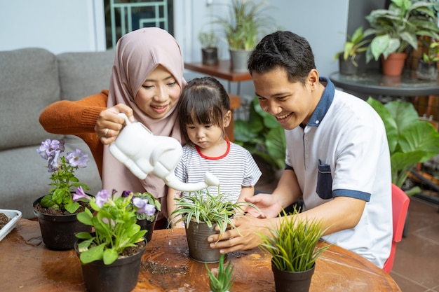
<svg viewBox="0 0 439 292">
<path fill-rule="evenodd" d="M 20 219 L 0 242 L 0 291 L 85 291 L 81 263 L 72 251 L 47 249 L 39 223 Z M 275 291 L 271 256 L 259 249 L 229 253 L 236 277 L 233 291 Z M 208 264 L 209 268 L 217 267 Z M 209 291 L 203 263 L 189 258 L 183 228 L 154 230 L 142 256 L 133 291 Z M 376 265 L 339 246 L 330 246 L 316 263 L 310 291 L 400 291 Z"/>
</svg>

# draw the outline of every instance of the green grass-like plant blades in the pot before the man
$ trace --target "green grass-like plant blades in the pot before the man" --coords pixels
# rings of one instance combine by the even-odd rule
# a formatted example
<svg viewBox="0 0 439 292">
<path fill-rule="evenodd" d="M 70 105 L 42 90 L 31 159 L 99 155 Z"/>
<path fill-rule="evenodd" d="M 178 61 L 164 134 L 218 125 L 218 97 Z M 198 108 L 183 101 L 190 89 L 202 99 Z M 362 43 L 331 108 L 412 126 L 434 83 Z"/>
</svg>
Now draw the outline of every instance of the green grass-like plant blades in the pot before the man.
<svg viewBox="0 0 439 292">
<path fill-rule="evenodd" d="M 291 215 L 285 214 L 278 228 L 269 228 L 269 235 L 261 234 L 259 248 L 271 254 L 271 263 L 278 270 L 304 272 L 311 269 L 317 258 L 331 245 L 317 247 L 320 237 L 325 233 L 322 220 L 302 219 L 296 216 L 297 209 Z"/>
</svg>

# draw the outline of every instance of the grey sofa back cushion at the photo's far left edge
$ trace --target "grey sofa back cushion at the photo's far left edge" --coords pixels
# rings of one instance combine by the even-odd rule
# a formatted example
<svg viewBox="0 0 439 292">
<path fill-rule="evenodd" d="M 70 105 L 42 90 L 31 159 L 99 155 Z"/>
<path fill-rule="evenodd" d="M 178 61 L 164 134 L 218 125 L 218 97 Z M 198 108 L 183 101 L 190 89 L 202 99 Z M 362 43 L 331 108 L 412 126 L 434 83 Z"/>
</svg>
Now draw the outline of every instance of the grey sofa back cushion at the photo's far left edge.
<svg viewBox="0 0 439 292">
<path fill-rule="evenodd" d="M 56 57 L 41 48 L 0 53 L 0 150 L 40 144 L 48 135 L 38 123 L 49 104 L 60 100 Z"/>
</svg>

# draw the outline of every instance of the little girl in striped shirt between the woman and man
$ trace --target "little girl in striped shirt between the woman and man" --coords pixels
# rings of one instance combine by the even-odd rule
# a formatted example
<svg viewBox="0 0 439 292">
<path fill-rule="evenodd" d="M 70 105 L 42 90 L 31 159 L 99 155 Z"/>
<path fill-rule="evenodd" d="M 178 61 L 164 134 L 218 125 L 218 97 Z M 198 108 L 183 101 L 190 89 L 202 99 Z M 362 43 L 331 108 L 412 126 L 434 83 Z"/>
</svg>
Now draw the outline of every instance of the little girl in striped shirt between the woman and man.
<svg viewBox="0 0 439 292">
<path fill-rule="evenodd" d="M 261 172 L 252 155 L 225 138 L 224 128 L 231 121 L 229 96 L 212 77 L 195 78 L 187 83 L 177 105 L 180 127 L 190 142 L 183 147 L 182 160 L 175 175 L 185 183 L 204 180 L 205 172 L 219 179 L 219 192 L 224 200 L 243 202 L 255 191 Z M 218 188 L 207 188 L 217 195 Z M 175 210 L 175 197 L 189 195 L 169 188 L 168 214 Z M 173 222 L 177 218 L 173 218 Z M 173 225 L 171 223 L 171 225 Z M 177 223 L 174 227 L 182 227 Z"/>
</svg>

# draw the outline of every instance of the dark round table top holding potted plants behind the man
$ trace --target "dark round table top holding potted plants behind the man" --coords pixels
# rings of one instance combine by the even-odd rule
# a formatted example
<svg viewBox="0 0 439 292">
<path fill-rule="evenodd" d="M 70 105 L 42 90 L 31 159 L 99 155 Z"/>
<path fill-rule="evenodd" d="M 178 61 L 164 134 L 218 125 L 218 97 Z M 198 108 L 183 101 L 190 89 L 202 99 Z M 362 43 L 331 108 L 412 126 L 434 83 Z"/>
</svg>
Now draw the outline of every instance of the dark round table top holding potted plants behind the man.
<svg viewBox="0 0 439 292">
<path fill-rule="evenodd" d="M 421 81 L 413 70 L 403 71 L 401 76 L 384 76 L 378 69 L 360 70 L 356 75 L 334 72 L 329 78 L 338 88 L 367 95 L 395 97 L 439 95 L 439 79 Z"/>
</svg>

